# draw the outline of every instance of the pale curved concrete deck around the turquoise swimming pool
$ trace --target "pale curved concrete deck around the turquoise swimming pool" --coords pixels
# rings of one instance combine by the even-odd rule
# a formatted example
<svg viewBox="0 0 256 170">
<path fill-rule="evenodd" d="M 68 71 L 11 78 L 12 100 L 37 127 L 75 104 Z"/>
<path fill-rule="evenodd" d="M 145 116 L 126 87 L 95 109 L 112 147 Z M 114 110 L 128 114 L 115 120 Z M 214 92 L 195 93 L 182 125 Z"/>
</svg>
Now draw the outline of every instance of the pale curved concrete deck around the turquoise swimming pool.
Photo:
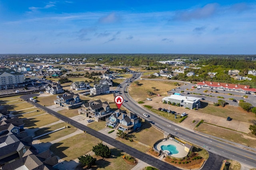
<svg viewBox="0 0 256 170">
<path fill-rule="evenodd" d="M 156 147 L 157 150 L 161 150 L 161 146 L 162 145 L 166 145 L 167 146 L 169 144 L 175 145 L 177 147 L 177 150 L 179 151 L 178 154 L 171 154 L 170 156 L 173 156 L 173 157 L 176 157 L 176 158 L 183 158 L 183 157 L 188 155 L 188 152 L 186 152 L 184 150 L 185 147 L 183 145 L 178 144 L 175 141 L 170 140 L 170 139 L 159 142 L 155 147 Z"/>
</svg>

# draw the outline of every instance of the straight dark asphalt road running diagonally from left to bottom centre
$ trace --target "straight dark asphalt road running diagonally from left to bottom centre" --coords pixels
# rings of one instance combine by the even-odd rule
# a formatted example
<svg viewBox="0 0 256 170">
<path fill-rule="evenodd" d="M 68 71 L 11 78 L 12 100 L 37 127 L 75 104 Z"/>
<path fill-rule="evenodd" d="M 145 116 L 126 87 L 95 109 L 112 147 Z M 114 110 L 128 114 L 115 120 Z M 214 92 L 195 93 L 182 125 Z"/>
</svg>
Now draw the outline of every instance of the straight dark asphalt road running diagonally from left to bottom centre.
<svg viewBox="0 0 256 170">
<path fill-rule="evenodd" d="M 145 154 L 143 152 L 140 152 L 122 142 L 119 142 L 118 140 L 115 140 L 113 138 L 110 138 L 109 136 L 106 136 L 105 134 L 102 134 L 96 130 L 93 130 L 92 128 L 89 128 L 85 125 L 82 125 L 68 117 L 65 117 L 55 111 L 52 111 L 51 109 L 48 109 L 47 107 L 44 107 L 42 105 L 40 105 L 39 103 L 33 103 L 32 101 L 29 100 L 30 97 L 34 97 L 36 96 L 36 94 L 31 94 L 31 95 L 23 95 L 21 96 L 22 99 L 24 100 L 27 100 L 27 102 L 31 103 L 32 105 L 38 107 L 39 109 L 42 109 L 44 111 L 46 111 L 47 113 L 53 115 L 54 117 L 57 117 L 58 119 L 66 122 L 66 123 L 69 123 L 70 125 L 76 127 L 76 128 L 79 128 L 80 130 L 85 130 L 86 133 L 88 134 L 91 134 L 92 136 L 95 136 L 96 138 L 99 138 L 100 140 L 104 141 L 104 142 L 107 142 L 109 144 L 111 144 L 112 146 L 120 149 L 120 150 L 123 150 L 124 152 L 126 152 L 127 154 L 130 154 L 140 160 L 142 160 L 143 162 L 146 162 L 156 168 L 158 168 L 159 170 L 179 170 L 178 168 L 174 167 L 174 166 L 171 166 L 170 164 L 166 163 L 166 162 L 163 162 L 161 160 L 158 160 L 148 154 Z"/>
</svg>

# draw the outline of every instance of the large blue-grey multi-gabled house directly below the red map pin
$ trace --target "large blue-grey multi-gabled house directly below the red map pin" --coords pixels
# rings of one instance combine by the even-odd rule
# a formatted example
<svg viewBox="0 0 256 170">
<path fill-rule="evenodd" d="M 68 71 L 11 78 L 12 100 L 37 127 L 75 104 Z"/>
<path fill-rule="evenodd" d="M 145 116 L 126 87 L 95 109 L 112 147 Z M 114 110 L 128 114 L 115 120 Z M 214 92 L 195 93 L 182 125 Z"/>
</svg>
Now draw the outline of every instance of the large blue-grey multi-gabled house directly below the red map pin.
<svg viewBox="0 0 256 170">
<path fill-rule="evenodd" d="M 140 119 L 134 113 L 113 113 L 106 119 L 106 125 L 126 133 L 132 132 L 141 127 Z"/>
</svg>

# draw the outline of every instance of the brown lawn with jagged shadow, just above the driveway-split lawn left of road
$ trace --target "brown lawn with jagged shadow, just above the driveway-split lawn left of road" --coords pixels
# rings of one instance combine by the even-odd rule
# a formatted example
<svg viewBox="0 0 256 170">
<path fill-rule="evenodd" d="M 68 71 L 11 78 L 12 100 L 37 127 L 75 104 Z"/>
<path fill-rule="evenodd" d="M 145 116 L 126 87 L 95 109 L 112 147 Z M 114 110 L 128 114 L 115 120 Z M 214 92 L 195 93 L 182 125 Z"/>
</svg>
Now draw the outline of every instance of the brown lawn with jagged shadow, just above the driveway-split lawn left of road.
<svg viewBox="0 0 256 170">
<path fill-rule="evenodd" d="M 30 119 L 25 119 L 23 120 L 23 122 L 24 122 L 24 127 L 37 128 L 37 127 L 42 127 L 44 125 L 48 125 L 50 123 L 54 123 L 58 120 L 59 120 L 58 118 L 50 114 L 46 114 L 46 115 L 41 115 L 41 116 L 37 116 Z"/>
</svg>

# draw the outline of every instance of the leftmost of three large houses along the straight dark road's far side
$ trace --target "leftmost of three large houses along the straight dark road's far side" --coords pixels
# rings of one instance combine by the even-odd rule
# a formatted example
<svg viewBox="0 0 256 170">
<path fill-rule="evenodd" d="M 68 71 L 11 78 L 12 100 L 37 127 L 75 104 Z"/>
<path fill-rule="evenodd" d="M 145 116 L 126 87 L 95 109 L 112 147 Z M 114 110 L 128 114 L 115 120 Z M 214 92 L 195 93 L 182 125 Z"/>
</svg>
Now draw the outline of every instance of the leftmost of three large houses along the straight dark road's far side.
<svg viewBox="0 0 256 170">
<path fill-rule="evenodd" d="M 58 104 L 65 109 L 74 109 L 76 107 L 80 107 L 84 102 L 80 101 L 80 97 L 78 95 L 74 95 L 74 93 L 64 93 L 62 95 L 57 95 L 56 100 L 54 100 L 54 104 Z"/>
</svg>

